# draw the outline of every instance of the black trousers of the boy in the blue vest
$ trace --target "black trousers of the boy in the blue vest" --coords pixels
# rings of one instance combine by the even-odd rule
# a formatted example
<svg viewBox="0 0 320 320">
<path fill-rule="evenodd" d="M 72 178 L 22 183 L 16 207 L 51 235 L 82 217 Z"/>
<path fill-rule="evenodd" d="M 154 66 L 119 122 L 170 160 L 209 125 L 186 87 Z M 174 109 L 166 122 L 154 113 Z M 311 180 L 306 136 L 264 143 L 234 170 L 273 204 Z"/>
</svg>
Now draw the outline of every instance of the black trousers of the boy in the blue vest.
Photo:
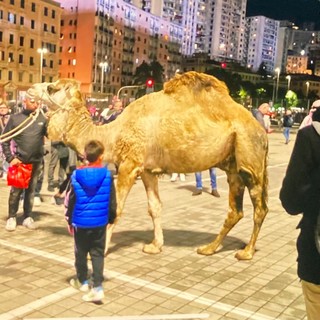
<svg viewBox="0 0 320 320">
<path fill-rule="evenodd" d="M 81 283 L 88 280 L 87 255 L 92 262 L 93 287 L 103 282 L 104 250 L 106 246 L 106 226 L 97 228 L 74 228 L 75 267 L 77 278 Z"/>
</svg>

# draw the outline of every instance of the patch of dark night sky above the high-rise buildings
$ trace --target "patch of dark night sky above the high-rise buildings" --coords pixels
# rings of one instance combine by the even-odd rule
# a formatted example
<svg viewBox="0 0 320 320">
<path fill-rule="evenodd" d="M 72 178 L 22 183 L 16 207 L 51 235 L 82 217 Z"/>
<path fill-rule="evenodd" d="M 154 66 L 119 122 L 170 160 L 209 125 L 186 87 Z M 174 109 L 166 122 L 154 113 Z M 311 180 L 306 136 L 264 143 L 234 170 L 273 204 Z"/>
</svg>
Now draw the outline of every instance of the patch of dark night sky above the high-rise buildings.
<svg viewBox="0 0 320 320">
<path fill-rule="evenodd" d="M 247 16 L 255 15 L 289 20 L 299 27 L 311 21 L 320 30 L 320 0 L 247 0 Z"/>
</svg>

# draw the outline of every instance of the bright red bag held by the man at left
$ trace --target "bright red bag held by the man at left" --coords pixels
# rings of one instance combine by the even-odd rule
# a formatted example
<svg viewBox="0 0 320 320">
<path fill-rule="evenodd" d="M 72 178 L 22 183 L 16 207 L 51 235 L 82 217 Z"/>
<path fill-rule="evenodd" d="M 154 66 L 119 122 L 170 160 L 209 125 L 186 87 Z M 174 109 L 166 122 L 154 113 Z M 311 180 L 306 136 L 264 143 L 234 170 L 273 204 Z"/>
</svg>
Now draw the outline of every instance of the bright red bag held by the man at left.
<svg viewBox="0 0 320 320">
<path fill-rule="evenodd" d="M 8 168 L 7 183 L 19 189 L 27 189 L 31 179 L 32 164 L 20 163 Z"/>
</svg>

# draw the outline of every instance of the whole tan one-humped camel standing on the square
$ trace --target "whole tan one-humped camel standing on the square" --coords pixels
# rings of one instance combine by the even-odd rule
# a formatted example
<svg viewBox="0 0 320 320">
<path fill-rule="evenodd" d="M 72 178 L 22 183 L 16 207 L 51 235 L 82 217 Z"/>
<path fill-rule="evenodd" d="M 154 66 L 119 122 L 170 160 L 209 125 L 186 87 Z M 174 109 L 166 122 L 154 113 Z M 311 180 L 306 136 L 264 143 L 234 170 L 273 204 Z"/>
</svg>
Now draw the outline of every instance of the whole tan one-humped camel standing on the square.
<svg viewBox="0 0 320 320">
<path fill-rule="evenodd" d="M 162 91 L 135 100 L 115 121 L 102 126 L 92 122 L 79 88 L 76 80 L 60 79 L 34 84 L 29 91 L 50 110 L 50 139 L 61 140 L 79 153 L 89 140 L 100 139 L 106 148 L 105 161 L 118 166 L 117 218 L 108 225 L 107 248 L 137 176 L 144 184 L 154 225 L 154 239 L 143 251 L 155 254 L 164 244 L 159 175 L 218 167 L 228 178 L 229 210 L 218 236 L 197 252 L 212 255 L 217 251 L 243 217 L 247 188 L 254 210 L 253 231 L 235 256 L 252 259 L 268 212 L 268 139 L 252 114 L 231 98 L 224 82 L 193 71 L 177 74 Z"/>
</svg>

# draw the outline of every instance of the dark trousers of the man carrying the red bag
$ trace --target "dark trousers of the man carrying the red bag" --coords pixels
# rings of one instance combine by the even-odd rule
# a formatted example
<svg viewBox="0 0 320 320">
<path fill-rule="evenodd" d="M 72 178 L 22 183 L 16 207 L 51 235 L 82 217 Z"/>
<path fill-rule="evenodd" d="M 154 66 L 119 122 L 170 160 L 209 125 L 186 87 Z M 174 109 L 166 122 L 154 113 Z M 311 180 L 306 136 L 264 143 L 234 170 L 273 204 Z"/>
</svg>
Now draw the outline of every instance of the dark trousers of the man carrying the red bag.
<svg viewBox="0 0 320 320">
<path fill-rule="evenodd" d="M 19 209 L 19 201 L 21 194 L 24 191 L 23 198 L 23 216 L 24 219 L 30 217 L 33 208 L 33 199 L 35 193 L 35 187 L 38 181 L 38 177 L 41 170 L 41 162 L 35 162 L 32 164 L 32 173 L 27 189 L 19 189 L 11 187 L 9 195 L 9 218 L 15 218 Z"/>
</svg>

